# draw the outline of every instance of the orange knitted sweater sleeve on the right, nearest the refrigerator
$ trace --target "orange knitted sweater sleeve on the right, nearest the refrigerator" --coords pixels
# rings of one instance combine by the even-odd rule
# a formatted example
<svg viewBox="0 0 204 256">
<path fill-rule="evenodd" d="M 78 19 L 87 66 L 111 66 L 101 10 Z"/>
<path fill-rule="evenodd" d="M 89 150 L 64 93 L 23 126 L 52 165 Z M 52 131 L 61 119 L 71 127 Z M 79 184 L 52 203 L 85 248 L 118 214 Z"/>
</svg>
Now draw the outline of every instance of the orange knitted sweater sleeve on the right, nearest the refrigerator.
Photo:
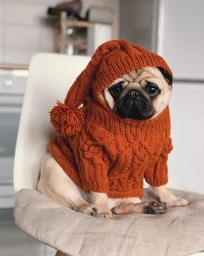
<svg viewBox="0 0 204 256">
<path fill-rule="evenodd" d="M 160 186 L 168 183 L 168 153 L 173 149 L 169 139 L 159 160 L 145 172 L 145 179 L 149 185 Z"/>
</svg>

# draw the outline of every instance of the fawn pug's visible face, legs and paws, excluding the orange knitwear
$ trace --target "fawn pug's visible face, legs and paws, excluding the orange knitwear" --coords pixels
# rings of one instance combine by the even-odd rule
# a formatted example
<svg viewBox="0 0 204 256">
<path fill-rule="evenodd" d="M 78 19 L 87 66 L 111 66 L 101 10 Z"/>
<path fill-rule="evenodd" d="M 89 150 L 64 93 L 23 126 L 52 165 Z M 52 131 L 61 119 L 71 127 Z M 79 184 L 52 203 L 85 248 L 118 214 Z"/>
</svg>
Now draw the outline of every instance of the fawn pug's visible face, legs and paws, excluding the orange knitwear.
<svg viewBox="0 0 204 256">
<path fill-rule="evenodd" d="M 121 118 L 155 118 L 168 106 L 172 77 L 161 67 L 144 67 L 126 73 L 109 84 L 100 97 Z M 139 198 L 111 199 L 103 192 L 85 192 L 63 172 L 50 154 L 43 157 L 37 190 L 59 204 L 102 218 L 129 212 L 164 213 L 167 206 L 188 205 L 176 198 L 166 185 L 152 187 L 159 202 L 141 202 Z"/>
</svg>

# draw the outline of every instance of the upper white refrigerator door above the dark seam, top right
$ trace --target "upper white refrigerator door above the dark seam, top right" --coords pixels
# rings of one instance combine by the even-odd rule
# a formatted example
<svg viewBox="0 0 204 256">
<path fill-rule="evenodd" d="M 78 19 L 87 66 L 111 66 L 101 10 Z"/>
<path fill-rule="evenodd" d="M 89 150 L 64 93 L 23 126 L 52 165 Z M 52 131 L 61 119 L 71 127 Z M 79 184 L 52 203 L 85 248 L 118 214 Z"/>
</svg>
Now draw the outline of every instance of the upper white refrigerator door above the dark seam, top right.
<svg viewBox="0 0 204 256">
<path fill-rule="evenodd" d="M 204 1 L 161 0 L 157 52 L 175 80 L 204 81 Z"/>
</svg>

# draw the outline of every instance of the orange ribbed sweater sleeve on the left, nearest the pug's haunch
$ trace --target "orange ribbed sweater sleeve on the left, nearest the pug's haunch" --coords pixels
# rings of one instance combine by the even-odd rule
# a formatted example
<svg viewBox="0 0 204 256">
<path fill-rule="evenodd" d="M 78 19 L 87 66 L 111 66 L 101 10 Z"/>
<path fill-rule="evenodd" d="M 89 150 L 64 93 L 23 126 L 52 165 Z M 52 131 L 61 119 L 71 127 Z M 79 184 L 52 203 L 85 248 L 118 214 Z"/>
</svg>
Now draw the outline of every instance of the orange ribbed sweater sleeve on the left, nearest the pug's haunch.
<svg viewBox="0 0 204 256">
<path fill-rule="evenodd" d="M 100 145 L 88 145 L 86 150 L 79 150 L 80 179 L 86 191 L 109 191 L 109 159 L 107 152 Z"/>
</svg>

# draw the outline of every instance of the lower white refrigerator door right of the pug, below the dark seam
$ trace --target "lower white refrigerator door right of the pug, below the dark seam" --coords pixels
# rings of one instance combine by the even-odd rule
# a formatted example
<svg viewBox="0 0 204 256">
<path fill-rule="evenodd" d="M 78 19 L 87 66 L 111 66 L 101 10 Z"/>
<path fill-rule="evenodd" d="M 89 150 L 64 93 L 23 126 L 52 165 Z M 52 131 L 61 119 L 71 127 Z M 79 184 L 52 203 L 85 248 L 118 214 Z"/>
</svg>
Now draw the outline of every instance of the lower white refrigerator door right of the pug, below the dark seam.
<svg viewBox="0 0 204 256">
<path fill-rule="evenodd" d="M 204 84 L 174 83 L 170 100 L 169 178 L 188 190 L 204 193 Z"/>
</svg>

